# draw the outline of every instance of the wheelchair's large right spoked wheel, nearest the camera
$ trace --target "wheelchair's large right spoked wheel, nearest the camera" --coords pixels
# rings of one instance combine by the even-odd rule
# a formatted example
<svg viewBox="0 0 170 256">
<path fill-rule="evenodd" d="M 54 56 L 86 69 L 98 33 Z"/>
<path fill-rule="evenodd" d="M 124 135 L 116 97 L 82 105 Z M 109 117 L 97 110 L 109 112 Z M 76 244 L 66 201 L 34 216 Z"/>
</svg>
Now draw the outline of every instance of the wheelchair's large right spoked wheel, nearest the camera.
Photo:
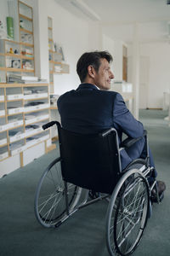
<svg viewBox="0 0 170 256">
<path fill-rule="evenodd" d="M 150 191 L 137 169 L 125 173 L 111 195 L 106 219 L 106 243 L 113 255 L 129 255 L 138 246 L 147 223 Z"/>
</svg>

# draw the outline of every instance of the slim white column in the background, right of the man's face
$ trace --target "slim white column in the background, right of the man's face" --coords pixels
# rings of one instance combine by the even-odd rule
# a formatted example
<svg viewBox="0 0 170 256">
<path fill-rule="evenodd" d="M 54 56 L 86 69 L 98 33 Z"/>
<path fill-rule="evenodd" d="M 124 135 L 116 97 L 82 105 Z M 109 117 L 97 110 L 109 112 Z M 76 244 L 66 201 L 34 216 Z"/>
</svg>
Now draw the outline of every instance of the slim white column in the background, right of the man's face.
<svg viewBox="0 0 170 256">
<path fill-rule="evenodd" d="M 139 119 L 139 27 L 138 24 L 133 26 L 133 114 Z"/>
</svg>

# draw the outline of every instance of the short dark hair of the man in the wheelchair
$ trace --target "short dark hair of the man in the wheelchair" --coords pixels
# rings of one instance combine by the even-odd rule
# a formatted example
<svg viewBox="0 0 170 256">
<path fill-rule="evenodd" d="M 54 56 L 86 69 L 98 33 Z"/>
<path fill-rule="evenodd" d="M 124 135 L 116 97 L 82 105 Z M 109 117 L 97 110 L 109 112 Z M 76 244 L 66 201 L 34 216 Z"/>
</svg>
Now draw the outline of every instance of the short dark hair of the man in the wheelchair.
<svg viewBox="0 0 170 256">
<path fill-rule="evenodd" d="M 77 74 L 81 80 L 81 83 L 87 77 L 88 66 L 92 65 L 96 72 L 99 71 L 100 59 L 106 59 L 109 63 L 113 61 L 111 54 L 108 51 L 92 51 L 85 52 L 77 61 Z"/>
</svg>

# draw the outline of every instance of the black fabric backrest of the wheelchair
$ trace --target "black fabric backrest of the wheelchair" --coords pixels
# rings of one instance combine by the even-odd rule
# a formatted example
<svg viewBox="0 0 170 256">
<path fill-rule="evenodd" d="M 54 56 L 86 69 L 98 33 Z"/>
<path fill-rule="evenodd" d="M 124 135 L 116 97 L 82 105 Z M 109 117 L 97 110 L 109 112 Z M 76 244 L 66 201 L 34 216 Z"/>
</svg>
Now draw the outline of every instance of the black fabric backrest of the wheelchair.
<svg viewBox="0 0 170 256">
<path fill-rule="evenodd" d="M 82 135 L 57 126 L 63 179 L 111 194 L 121 172 L 116 131 Z"/>
</svg>

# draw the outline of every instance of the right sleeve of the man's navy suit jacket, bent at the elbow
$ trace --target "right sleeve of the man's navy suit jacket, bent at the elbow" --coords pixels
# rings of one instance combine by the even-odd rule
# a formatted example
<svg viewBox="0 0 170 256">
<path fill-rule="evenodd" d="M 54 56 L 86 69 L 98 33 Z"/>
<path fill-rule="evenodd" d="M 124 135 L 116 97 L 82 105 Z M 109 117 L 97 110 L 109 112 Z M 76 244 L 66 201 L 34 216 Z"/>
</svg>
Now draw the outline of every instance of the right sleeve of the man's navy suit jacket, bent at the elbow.
<svg viewBox="0 0 170 256">
<path fill-rule="evenodd" d="M 118 131 L 122 130 L 128 137 L 141 137 L 144 132 L 144 126 L 133 117 L 133 114 L 127 109 L 122 96 L 117 93 L 113 108 L 113 121 Z"/>
</svg>

